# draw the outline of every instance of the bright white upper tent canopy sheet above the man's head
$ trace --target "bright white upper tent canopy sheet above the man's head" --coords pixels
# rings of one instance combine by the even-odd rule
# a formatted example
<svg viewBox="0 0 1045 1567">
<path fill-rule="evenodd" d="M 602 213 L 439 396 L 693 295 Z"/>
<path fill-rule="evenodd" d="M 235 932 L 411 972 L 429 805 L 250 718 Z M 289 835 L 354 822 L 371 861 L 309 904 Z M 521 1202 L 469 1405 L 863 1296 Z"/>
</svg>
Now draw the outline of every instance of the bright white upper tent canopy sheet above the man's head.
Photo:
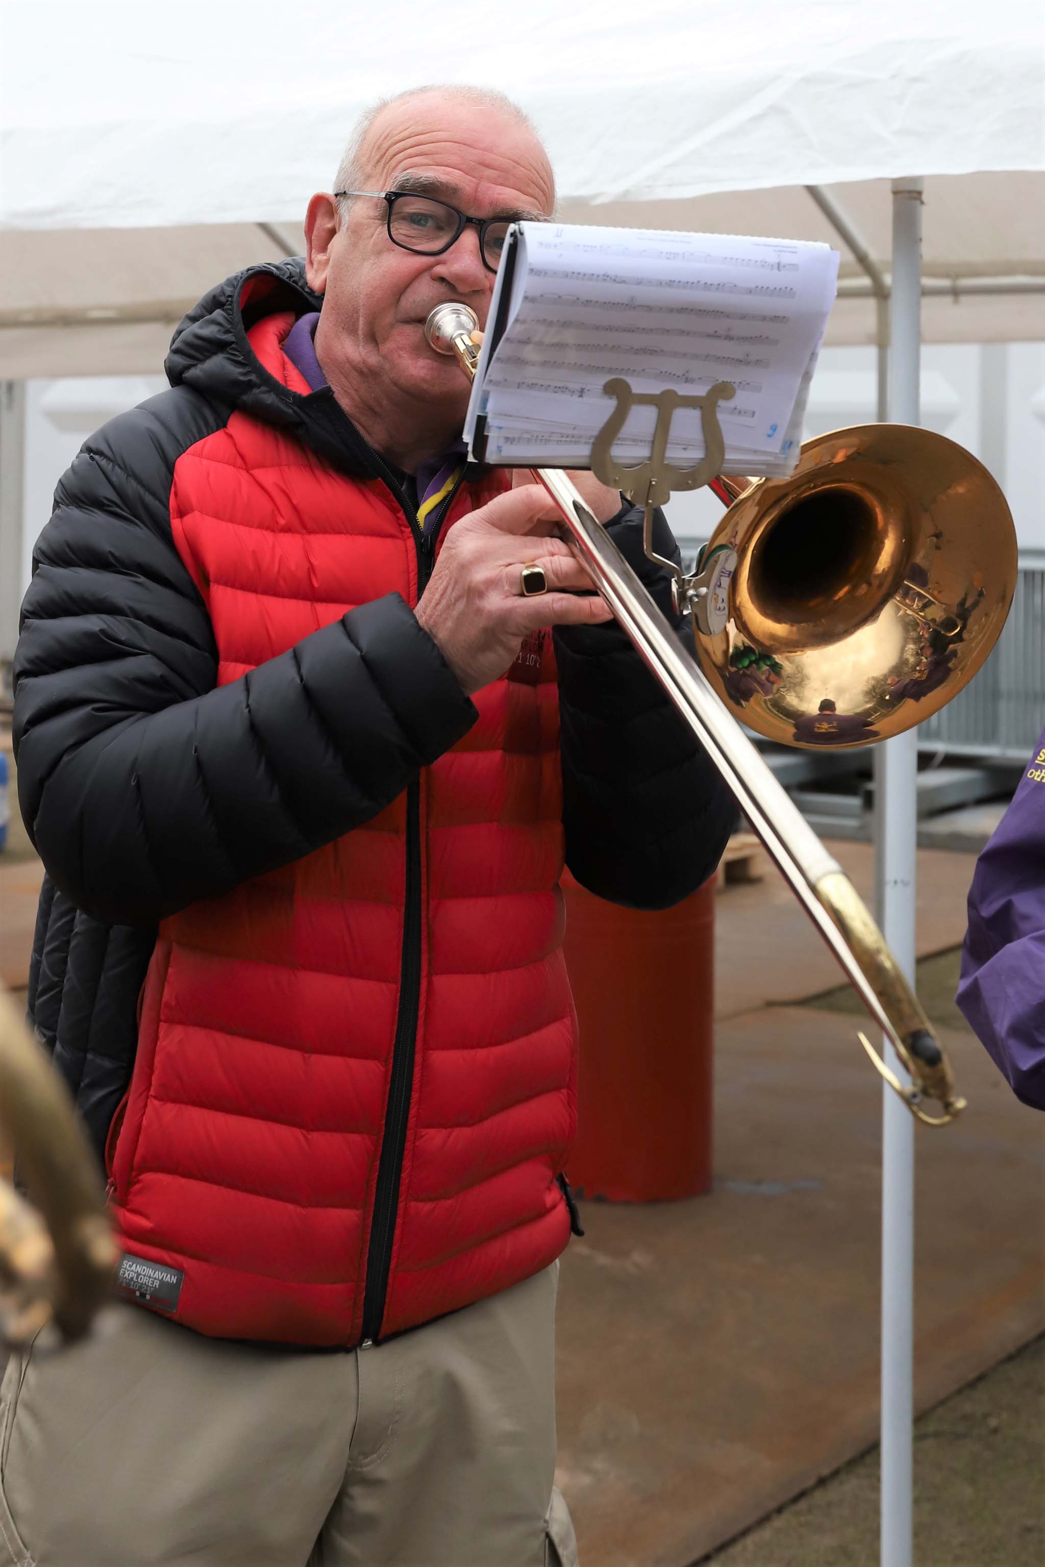
<svg viewBox="0 0 1045 1567">
<path fill-rule="evenodd" d="M 0 224 L 24 229 L 293 221 L 359 110 L 432 78 L 508 88 L 570 202 L 1045 163 L 1039 0 L 8 0 L 5 16 Z"/>
</svg>

